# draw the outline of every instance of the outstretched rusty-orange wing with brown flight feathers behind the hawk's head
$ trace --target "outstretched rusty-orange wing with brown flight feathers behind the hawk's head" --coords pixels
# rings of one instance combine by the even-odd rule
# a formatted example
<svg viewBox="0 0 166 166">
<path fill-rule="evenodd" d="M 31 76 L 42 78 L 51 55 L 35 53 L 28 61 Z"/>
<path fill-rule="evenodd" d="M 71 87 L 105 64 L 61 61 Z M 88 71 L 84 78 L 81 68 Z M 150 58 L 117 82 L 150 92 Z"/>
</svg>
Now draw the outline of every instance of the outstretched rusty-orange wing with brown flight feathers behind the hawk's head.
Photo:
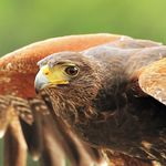
<svg viewBox="0 0 166 166">
<path fill-rule="evenodd" d="M 0 59 L 0 136 L 6 134 L 7 166 L 25 165 L 27 148 L 34 159 L 41 156 L 43 165 L 63 165 L 66 158 L 73 162 L 72 165 L 81 160 L 98 162 L 100 156 L 90 153 L 59 120 L 52 120 L 48 113 L 51 107 L 35 95 L 33 82 L 37 62 L 42 58 L 60 51 L 82 51 L 117 39 L 121 35 L 55 38 L 28 45 Z"/>
</svg>

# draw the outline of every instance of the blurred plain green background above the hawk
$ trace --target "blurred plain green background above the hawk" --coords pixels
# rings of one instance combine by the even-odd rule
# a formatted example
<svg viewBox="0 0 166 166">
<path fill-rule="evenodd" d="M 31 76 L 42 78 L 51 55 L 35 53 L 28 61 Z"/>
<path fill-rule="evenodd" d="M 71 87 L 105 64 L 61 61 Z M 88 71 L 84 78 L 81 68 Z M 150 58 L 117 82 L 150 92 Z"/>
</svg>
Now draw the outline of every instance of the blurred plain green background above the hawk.
<svg viewBox="0 0 166 166">
<path fill-rule="evenodd" d="M 166 43 L 165 11 L 165 0 L 0 0 L 0 55 L 79 33 L 110 32 Z"/>
</svg>

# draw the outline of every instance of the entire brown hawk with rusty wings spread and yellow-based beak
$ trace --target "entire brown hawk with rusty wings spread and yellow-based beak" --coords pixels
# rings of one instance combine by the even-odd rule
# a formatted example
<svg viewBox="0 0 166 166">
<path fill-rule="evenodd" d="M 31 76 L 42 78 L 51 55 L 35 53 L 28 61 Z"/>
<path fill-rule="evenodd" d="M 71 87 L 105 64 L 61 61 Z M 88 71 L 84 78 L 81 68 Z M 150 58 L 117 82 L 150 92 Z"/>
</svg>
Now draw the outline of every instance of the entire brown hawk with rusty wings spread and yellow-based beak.
<svg viewBox="0 0 166 166">
<path fill-rule="evenodd" d="M 152 41 L 84 34 L 1 58 L 4 165 L 24 166 L 27 149 L 50 166 L 165 165 L 165 50 Z"/>
</svg>

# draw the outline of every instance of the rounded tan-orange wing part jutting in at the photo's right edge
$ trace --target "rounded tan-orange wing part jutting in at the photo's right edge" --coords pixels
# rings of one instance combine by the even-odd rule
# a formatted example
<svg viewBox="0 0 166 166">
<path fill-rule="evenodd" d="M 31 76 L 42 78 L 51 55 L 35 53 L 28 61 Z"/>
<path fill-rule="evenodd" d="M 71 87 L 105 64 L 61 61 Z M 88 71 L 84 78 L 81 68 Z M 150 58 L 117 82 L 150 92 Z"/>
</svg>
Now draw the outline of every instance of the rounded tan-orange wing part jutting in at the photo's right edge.
<svg viewBox="0 0 166 166">
<path fill-rule="evenodd" d="M 166 105 L 166 58 L 143 69 L 138 83 L 145 93 Z"/>
</svg>

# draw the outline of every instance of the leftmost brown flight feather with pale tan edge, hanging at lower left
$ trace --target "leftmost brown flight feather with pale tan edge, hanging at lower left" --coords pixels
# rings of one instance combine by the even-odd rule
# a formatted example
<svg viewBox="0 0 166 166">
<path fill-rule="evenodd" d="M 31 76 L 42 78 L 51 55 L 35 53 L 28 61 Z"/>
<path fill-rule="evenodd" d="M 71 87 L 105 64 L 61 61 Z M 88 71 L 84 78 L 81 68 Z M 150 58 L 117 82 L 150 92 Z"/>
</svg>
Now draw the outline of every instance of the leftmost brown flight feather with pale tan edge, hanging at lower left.
<svg viewBox="0 0 166 166">
<path fill-rule="evenodd" d="M 12 120 L 10 118 L 10 123 L 8 122 L 9 125 L 4 135 L 3 165 L 25 166 L 27 165 L 27 144 L 22 134 L 19 118 L 15 115 L 15 112 L 12 107 L 9 107 L 7 112 L 12 114 L 12 116 L 10 115 L 8 116 L 8 118 L 12 117 Z M 3 120 L 3 118 L 0 118 L 0 120 Z"/>
</svg>

